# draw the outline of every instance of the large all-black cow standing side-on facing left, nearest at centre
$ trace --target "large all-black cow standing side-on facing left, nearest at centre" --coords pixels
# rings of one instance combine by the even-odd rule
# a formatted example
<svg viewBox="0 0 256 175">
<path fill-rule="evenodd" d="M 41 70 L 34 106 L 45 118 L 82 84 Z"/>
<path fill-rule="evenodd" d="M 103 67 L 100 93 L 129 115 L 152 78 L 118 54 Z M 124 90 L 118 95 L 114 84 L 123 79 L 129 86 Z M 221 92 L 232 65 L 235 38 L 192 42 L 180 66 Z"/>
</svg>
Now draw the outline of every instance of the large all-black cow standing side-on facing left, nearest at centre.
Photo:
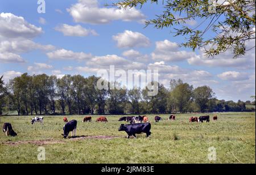
<svg viewBox="0 0 256 175">
<path fill-rule="evenodd" d="M 150 132 L 151 124 L 150 123 L 133 123 L 130 125 L 121 124 L 118 131 L 125 131 L 127 135 L 127 139 L 133 135 L 136 138 L 135 134 L 146 133 L 147 137 L 151 135 Z"/>
</svg>

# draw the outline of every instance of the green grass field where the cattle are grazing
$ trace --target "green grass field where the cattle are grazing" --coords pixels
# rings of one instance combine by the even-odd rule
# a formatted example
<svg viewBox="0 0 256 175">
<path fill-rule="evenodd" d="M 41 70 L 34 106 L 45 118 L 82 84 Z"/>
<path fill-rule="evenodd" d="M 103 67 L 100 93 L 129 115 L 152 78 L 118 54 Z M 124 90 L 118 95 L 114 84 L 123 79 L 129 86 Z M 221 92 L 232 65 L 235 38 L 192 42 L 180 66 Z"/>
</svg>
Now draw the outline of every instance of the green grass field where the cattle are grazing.
<svg viewBox="0 0 256 175">
<path fill-rule="evenodd" d="M 255 163 L 255 113 L 218 113 L 218 121 L 189 123 L 192 114 L 176 114 L 176 121 L 151 122 L 151 136 L 126 139 L 119 132 L 121 116 L 106 116 L 108 123 L 82 123 L 77 119 L 77 135 L 63 139 L 63 117 L 45 116 L 44 125 L 31 125 L 29 117 L 1 117 L 10 122 L 16 137 L 0 133 L 0 163 Z M 195 116 L 195 114 L 193 115 Z M 196 116 L 200 116 L 197 114 Z M 71 134 L 71 133 L 70 133 Z M 38 160 L 38 147 L 46 150 L 46 160 Z M 208 148 L 216 148 L 216 161 L 208 160 Z"/>
</svg>

